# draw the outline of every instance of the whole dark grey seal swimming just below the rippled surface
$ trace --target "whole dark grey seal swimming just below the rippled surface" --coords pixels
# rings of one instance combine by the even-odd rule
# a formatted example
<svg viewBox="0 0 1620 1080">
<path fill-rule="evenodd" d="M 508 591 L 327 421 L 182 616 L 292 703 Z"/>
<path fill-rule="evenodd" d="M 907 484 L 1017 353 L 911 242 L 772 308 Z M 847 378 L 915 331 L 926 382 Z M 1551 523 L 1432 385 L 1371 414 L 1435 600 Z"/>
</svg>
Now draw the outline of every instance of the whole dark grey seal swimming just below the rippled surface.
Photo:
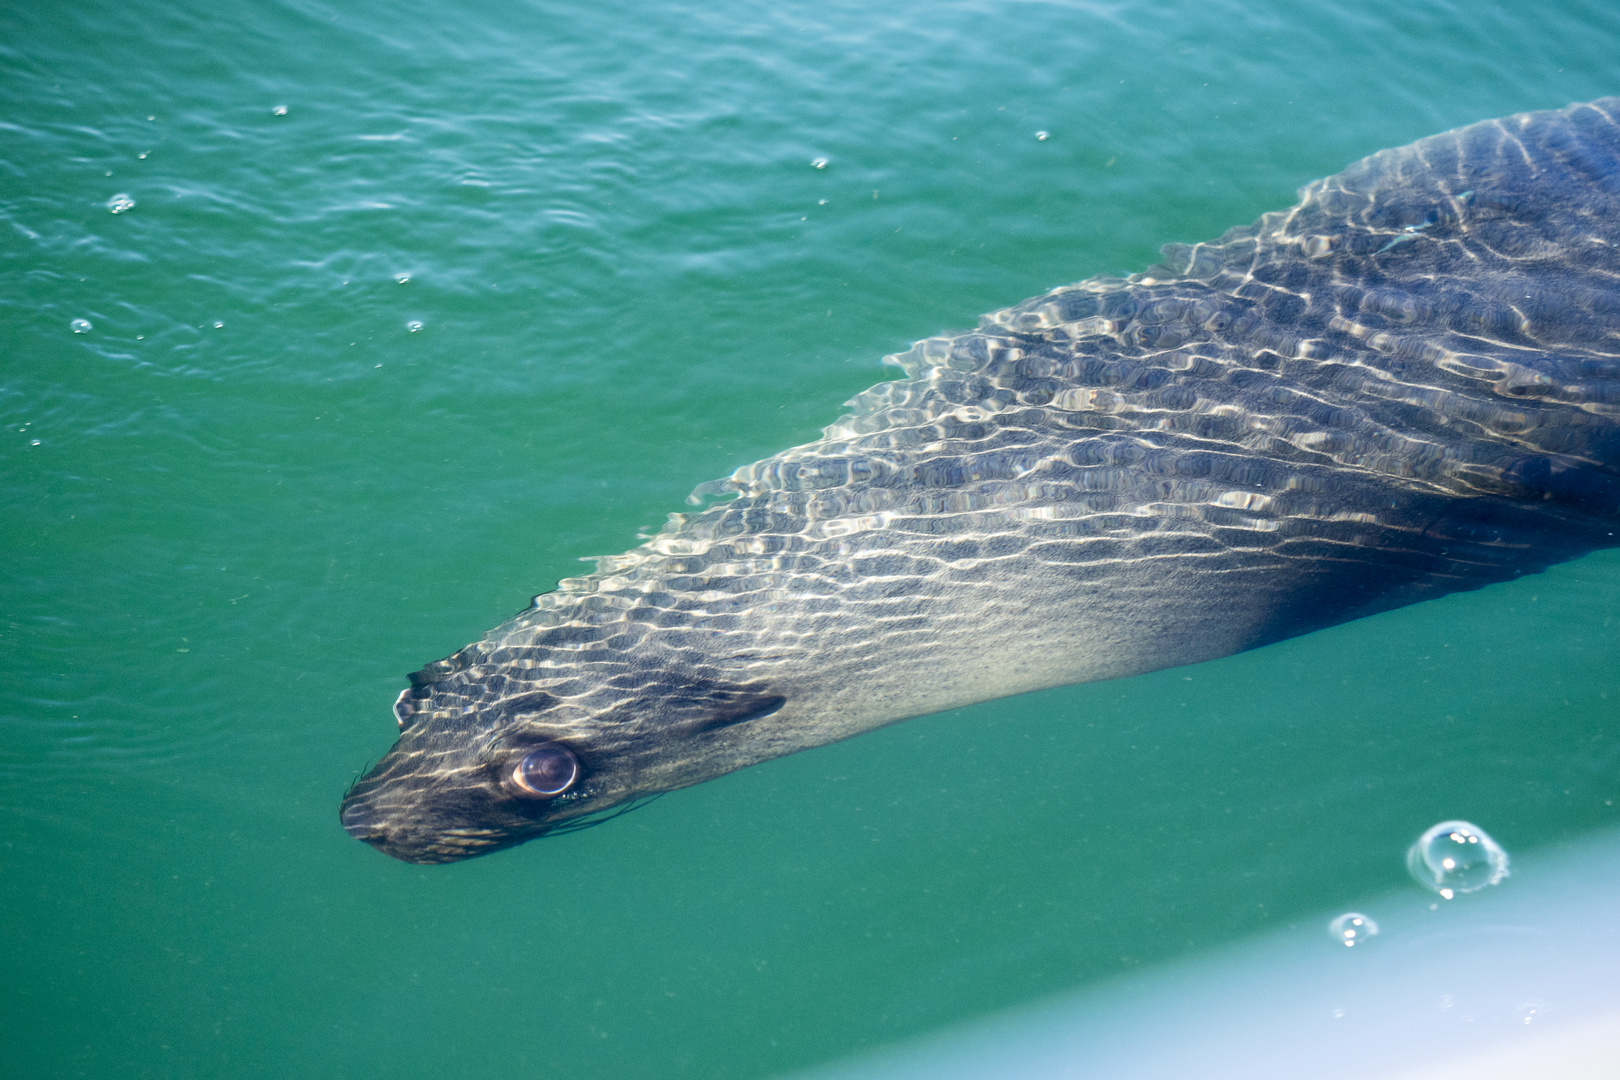
<svg viewBox="0 0 1620 1080">
<path fill-rule="evenodd" d="M 1604 99 L 1383 151 L 891 356 L 906 377 L 820 440 L 411 675 L 345 827 L 450 861 L 1614 546 L 1617 121 Z M 577 782 L 515 790 L 536 746 Z"/>
</svg>

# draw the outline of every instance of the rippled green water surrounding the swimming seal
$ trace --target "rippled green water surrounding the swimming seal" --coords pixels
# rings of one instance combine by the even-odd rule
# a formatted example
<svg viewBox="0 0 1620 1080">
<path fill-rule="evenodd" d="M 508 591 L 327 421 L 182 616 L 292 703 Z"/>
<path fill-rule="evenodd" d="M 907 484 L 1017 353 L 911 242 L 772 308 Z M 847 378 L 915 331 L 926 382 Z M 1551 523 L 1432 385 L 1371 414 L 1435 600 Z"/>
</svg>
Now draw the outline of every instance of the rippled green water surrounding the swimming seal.
<svg viewBox="0 0 1620 1080">
<path fill-rule="evenodd" d="M 1442 818 L 1620 824 L 1617 554 L 465 865 L 337 824 L 403 672 L 883 353 L 1617 55 L 1605 3 L 0 6 L 6 1075 L 766 1077 Z"/>
</svg>

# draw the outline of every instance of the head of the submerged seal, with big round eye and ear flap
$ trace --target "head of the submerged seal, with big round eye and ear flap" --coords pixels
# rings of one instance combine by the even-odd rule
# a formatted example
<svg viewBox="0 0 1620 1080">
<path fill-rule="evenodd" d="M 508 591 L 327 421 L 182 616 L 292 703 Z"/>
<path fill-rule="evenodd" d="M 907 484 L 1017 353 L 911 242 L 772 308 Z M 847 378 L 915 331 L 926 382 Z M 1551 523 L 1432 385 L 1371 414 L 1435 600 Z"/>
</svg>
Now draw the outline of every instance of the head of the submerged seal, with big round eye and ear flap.
<svg viewBox="0 0 1620 1080">
<path fill-rule="evenodd" d="M 561 653 L 533 661 L 557 693 L 528 682 L 491 699 L 491 657 L 478 646 L 411 675 L 394 704 L 399 743 L 343 797 L 353 837 L 405 861 L 446 863 L 578 829 L 684 787 L 677 777 L 705 771 L 719 732 L 784 703 L 758 687 L 526 651 L 531 661 Z M 591 690 L 565 696 L 570 685 Z"/>
</svg>

